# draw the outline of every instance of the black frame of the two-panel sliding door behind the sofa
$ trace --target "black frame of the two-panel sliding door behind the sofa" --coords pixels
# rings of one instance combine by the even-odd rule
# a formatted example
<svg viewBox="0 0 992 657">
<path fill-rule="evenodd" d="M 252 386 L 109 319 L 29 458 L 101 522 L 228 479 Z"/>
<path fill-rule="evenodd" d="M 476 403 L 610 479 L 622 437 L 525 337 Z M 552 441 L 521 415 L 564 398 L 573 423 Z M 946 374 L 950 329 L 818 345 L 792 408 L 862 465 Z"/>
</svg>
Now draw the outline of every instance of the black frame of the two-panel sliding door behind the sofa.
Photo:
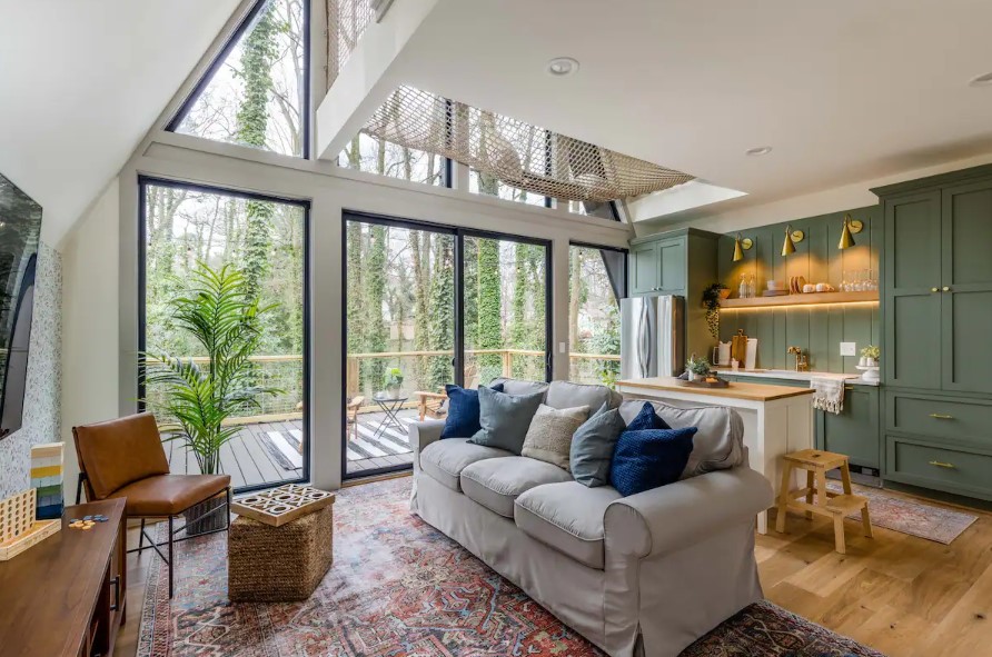
<svg viewBox="0 0 992 657">
<path fill-rule="evenodd" d="M 433 221 L 423 221 L 419 219 L 405 219 L 400 217 L 393 217 L 388 215 L 376 215 L 373 212 L 365 212 L 361 210 L 350 210 L 344 209 L 341 211 L 341 371 L 340 371 L 340 380 L 341 382 L 347 380 L 348 376 L 348 313 L 345 311 L 348 303 L 348 258 L 346 250 L 347 249 L 347 230 L 349 221 L 361 221 L 365 223 L 375 223 L 378 226 L 389 226 L 397 228 L 406 228 L 409 230 L 424 230 L 424 231 L 433 231 L 439 232 L 442 235 L 449 235 L 455 238 L 454 249 L 455 249 L 455 299 L 454 299 L 454 358 L 452 359 L 452 366 L 454 368 L 455 380 L 454 384 L 458 386 L 463 386 L 465 384 L 465 312 L 464 312 L 464 299 L 465 299 L 465 263 L 464 263 L 464 255 L 465 255 L 465 238 L 474 237 L 479 239 L 497 239 L 497 240 L 508 240 L 515 241 L 519 243 L 533 245 L 544 247 L 545 249 L 545 289 L 544 289 L 544 312 L 545 312 L 545 367 L 544 367 L 544 377 L 545 381 L 552 381 L 554 379 L 554 358 L 555 358 L 555 349 L 554 349 L 554 318 L 553 318 L 553 307 L 554 299 L 552 295 L 554 293 L 554 269 L 553 269 L 553 258 L 554 258 L 554 242 L 548 239 L 526 237 L 520 235 L 514 235 L 509 232 L 498 232 L 492 230 L 480 230 L 475 228 L 462 228 L 457 226 L 449 226 L 446 223 L 436 223 Z M 360 472 L 353 472 L 349 475 L 348 472 L 348 457 L 347 457 L 347 447 L 348 447 L 348 417 L 347 414 L 344 412 L 345 407 L 347 406 L 347 397 L 348 390 L 346 386 L 341 386 L 341 397 L 340 397 L 340 408 L 341 412 L 341 421 L 340 421 L 340 432 L 341 432 L 341 481 L 361 479 L 367 477 L 378 477 L 381 475 L 389 475 L 393 472 L 400 472 L 408 470 L 411 466 L 401 465 L 401 466 L 390 466 L 386 468 L 374 468 L 368 470 L 361 470 Z"/>
</svg>

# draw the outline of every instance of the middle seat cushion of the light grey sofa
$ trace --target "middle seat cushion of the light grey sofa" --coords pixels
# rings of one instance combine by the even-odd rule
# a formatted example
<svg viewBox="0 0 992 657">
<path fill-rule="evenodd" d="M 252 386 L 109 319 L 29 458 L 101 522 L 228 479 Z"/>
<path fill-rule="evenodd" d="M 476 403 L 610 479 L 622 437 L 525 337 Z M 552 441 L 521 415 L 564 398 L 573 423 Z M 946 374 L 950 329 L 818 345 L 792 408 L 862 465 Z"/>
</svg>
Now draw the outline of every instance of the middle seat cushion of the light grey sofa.
<svg viewBox="0 0 992 657">
<path fill-rule="evenodd" d="M 490 511 L 513 518 L 513 502 L 543 484 L 569 481 L 558 466 L 525 456 L 477 461 L 462 470 L 462 490 Z"/>
</svg>

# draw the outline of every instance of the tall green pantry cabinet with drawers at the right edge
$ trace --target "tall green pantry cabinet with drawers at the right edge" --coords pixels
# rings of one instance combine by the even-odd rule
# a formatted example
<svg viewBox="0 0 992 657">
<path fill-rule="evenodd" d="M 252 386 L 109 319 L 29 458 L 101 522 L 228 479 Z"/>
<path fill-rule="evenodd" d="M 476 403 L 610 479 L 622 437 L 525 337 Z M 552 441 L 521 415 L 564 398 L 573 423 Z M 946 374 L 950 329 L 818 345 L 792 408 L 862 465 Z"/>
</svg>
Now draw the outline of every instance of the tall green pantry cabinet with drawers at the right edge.
<svg viewBox="0 0 992 657">
<path fill-rule="evenodd" d="M 992 499 L 992 166 L 884 206 L 884 478 Z"/>
</svg>

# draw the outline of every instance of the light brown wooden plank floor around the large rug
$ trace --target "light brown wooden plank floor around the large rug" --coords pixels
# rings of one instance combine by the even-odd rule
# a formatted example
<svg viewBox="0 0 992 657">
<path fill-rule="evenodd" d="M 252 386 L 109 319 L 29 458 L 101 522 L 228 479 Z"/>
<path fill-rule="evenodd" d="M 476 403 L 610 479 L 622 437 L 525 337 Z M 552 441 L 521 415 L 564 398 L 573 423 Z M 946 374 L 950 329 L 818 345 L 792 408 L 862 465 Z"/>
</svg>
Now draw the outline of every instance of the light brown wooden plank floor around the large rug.
<svg viewBox="0 0 992 657">
<path fill-rule="evenodd" d="M 992 514 L 973 512 L 979 520 L 949 546 L 880 527 L 867 539 L 847 520 L 846 556 L 833 549 L 829 519 L 790 514 L 787 534 L 757 537 L 765 596 L 889 657 L 992 655 Z M 128 557 L 128 623 L 115 657 L 135 655 L 145 575 L 157 558 Z"/>
</svg>

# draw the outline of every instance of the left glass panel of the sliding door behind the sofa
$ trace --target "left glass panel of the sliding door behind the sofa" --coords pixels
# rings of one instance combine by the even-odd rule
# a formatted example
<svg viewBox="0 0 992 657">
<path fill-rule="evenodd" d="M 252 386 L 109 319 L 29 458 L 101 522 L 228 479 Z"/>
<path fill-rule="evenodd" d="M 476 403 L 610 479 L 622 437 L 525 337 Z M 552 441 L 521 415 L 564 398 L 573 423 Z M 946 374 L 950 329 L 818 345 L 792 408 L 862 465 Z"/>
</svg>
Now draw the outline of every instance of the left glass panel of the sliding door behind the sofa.
<svg viewBox="0 0 992 657">
<path fill-rule="evenodd" d="M 345 219 L 346 477 L 409 467 L 416 392 L 454 380 L 455 242 L 453 231 Z"/>
</svg>

